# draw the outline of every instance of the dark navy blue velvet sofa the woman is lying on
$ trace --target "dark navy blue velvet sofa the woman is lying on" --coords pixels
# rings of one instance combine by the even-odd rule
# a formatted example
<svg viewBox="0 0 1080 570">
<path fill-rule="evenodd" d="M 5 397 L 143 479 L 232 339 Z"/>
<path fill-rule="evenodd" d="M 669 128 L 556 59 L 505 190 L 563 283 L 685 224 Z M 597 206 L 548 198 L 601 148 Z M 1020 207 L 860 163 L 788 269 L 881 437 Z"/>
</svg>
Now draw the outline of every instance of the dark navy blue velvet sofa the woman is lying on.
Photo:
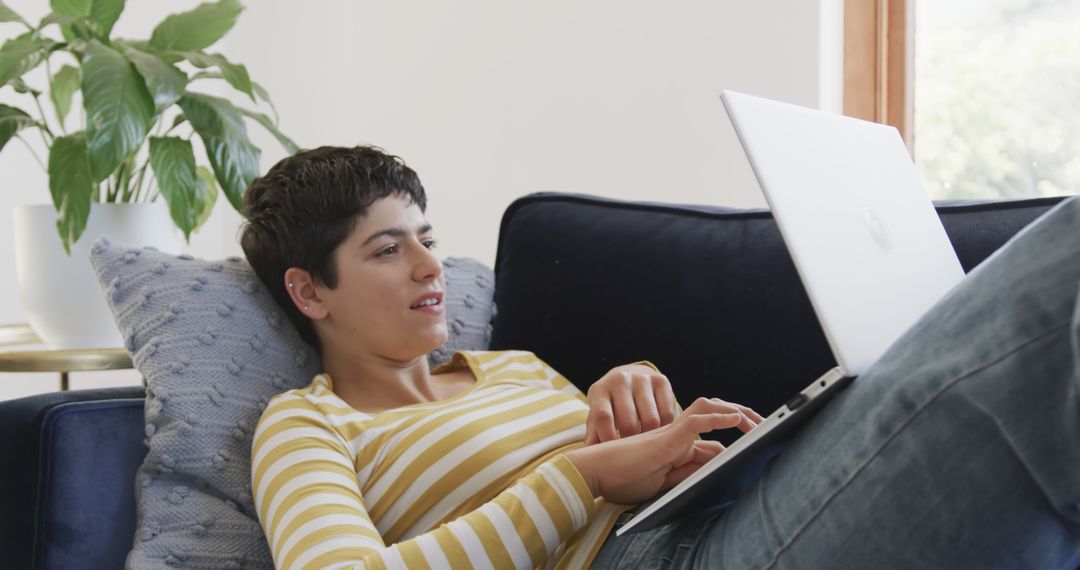
<svg viewBox="0 0 1080 570">
<path fill-rule="evenodd" d="M 970 271 L 1058 201 L 937 211 Z M 648 358 L 680 402 L 721 395 L 771 410 L 835 365 L 767 211 L 531 194 L 503 216 L 495 270 L 491 348 L 531 350 L 582 389 Z M 0 403 L 0 566 L 123 566 L 146 453 L 143 395 Z"/>
</svg>

